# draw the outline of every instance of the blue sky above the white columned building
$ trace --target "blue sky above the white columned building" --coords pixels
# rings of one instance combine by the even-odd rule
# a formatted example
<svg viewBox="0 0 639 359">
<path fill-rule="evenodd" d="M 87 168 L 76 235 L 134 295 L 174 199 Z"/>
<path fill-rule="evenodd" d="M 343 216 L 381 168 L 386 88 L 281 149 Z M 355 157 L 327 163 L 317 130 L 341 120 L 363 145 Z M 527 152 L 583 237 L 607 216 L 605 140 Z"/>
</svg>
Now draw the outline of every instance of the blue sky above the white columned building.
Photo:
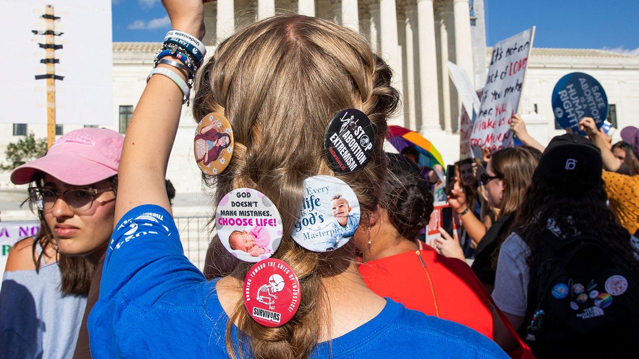
<svg viewBox="0 0 639 359">
<path fill-rule="evenodd" d="M 537 26 L 535 47 L 615 49 L 639 56 L 637 0 L 484 0 L 486 42 Z M 113 41 L 162 41 L 159 0 L 113 0 Z"/>
</svg>

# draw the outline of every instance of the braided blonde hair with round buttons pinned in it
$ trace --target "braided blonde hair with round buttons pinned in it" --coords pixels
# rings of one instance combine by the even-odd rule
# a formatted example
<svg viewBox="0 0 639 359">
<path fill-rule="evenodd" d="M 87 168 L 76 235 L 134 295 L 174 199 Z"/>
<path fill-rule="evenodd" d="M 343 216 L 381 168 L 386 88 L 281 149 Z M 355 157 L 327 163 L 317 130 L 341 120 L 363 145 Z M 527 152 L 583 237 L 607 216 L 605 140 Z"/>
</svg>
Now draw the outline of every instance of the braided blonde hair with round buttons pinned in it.
<svg viewBox="0 0 639 359">
<path fill-rule="evenodd" d="M 352 257 L 328 258 L 305 250 L 291 238 L 304 200 L 304 179 L 337 176 L 357 195 L 360 227 L 373 213 L 386 178 L 382 145 L 386 120 L 396 110 L 399 93 L 390 85 L 389 66 L 374 55 L 364 36 L 327 20 L 281 15 L 261 20 L 220 43 L 196 80 L 193 115 L 223 113 L 235 145 L 227 169 L 216 177 L 216 203 L 230 190 L 249 187 L 267 195 L 282 216 L 281 245 L 273 258 L 286 261 L 300 280 L 302 299 L 293 318 L 277 328 L 253 321 L 242 300 L 226 327 L 226 348 L 236 358 L 250 347 L 256 358 L 308 358 L 328 332 L 328 306 L 321 282 L 327 268 L 347 268 Z M 323 151 L 328 122 L 343 109 L 364 112 L 374 128 L 370 162 L 351 174 L 335 174 Z M 330 257 L 330 256 L 329 256 Z M 334 263 L 328 261 L 341 261 Z M 233 275 L 243 279 L 241 263 Z M 238 326 L 238 345 L 232 340 Z"/>
</svg>

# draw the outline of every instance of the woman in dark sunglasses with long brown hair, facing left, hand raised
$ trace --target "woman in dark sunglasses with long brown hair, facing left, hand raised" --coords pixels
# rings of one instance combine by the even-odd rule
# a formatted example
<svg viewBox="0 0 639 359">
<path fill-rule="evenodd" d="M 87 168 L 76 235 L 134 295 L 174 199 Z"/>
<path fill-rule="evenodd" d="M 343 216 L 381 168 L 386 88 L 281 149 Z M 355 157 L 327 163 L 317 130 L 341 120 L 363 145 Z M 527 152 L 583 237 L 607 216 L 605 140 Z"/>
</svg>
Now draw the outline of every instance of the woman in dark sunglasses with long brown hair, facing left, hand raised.
<svg viewBox="0 0 639 359">
<path fill-rule="evenodd" d="M 512 224 L 514 212 L 521 204 L 537 162 L 539 162 L 537 156 L 528 148 L 504 148 L 493 153 L 486 167 L 486 173 L 480 175 L 479 179 L 486 187 L 488 205 L 498 210 L 496 211 L 497 220 L 477 243 L 475 261 L 472 264 L 473 271 L 489 291 L 495 286 L 497 261 L 493 261 L 493 257 L 496 259 L 493 252 L 498 250 L 500 243 L 510 233 L 508 229 Z M 468 233 L 471 233 L 473 228 L 483 227 L 482 222 L 473 215 L 466 204 L 460 203 L 455 197 L 455 193 L 453 191 L 449 203 L 457 211 Z M 450 238 L 445 231 L 440 232 L 442 237 L 437 238 L 436 250 L 443 256 L 464 260 L 459 243 Z"/>
</svg>

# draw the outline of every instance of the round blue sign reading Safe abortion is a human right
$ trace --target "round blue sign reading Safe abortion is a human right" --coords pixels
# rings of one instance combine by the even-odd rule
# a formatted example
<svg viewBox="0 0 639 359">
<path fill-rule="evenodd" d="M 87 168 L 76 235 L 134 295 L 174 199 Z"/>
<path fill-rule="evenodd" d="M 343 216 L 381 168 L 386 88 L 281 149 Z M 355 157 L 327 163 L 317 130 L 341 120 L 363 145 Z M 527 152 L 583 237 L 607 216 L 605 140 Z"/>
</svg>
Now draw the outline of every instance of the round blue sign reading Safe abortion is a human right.
<svg viewBox="0 0 639 359">
<path fill-rule="evenodd" d="M 599 81 L 583 72 L 573 72 L 557 81 L 553 89 L 553 112 L 563 128 L 585 135 L 579 130 L 579 121 L 592 117 L 597 128 L 608 116 L 608 97 Z"/>
</svg>

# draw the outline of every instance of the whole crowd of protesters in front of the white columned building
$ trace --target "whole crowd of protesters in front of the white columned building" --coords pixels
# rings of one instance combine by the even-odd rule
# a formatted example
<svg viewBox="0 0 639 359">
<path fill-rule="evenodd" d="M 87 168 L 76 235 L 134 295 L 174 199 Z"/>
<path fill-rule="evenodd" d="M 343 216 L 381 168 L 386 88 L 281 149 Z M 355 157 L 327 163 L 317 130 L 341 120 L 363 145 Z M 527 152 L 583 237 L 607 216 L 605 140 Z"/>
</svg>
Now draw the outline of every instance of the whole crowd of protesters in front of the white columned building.
<svg viewBox="0 0 639 359">
<path fill-rule="evenodd" d="M 42 229 L 8 257 L 0 358 L 639 357 L 638 128 L 612 145 L 583 118 L 587 136 L 544 148 L 514 115 L 524 146 L 486 149 L 454 173 L 420 168 L 411 148 L 383 151 L 399 93 L 360 34 L 281 15 L 240 29 L 203 61 L 203 1 L 162 3 L 167 39 L 181 42 L 158 52 L 126 137 L 76 130 L 12 172 L 30 184 Z M 219 227 L 204 273 L 183 254 L 165 176 L 191 86 L 194 118 L 223 114 L 233 128 L 213 139 L 202 135 L 211 125 L 195 145 L 207 150 L 201 166 L 224 164 L 203 167 L 216 204 L 248 188 L 281 215 L 279 247 L 258 232 L 237 236 L 295 277 L 300 294 L 276 325 L 247 304 L 249 278 L 268 259 L 242 261 Z M 358 171 L 332 167 L 323 146 L 345 109 L 371 123 Z M 314 176 L 339 178 L 358 202 L 352 238 L 325 251 L 292 234 Z M 440 228 L 430 247 L 420 233 L 434 201 L 448 202 L 461 235 Z M 342 195 L 331 203 L 334 213 L 356 208 Z M 286 298 L 281 278 L 258 301 Z"/>
</svg>

